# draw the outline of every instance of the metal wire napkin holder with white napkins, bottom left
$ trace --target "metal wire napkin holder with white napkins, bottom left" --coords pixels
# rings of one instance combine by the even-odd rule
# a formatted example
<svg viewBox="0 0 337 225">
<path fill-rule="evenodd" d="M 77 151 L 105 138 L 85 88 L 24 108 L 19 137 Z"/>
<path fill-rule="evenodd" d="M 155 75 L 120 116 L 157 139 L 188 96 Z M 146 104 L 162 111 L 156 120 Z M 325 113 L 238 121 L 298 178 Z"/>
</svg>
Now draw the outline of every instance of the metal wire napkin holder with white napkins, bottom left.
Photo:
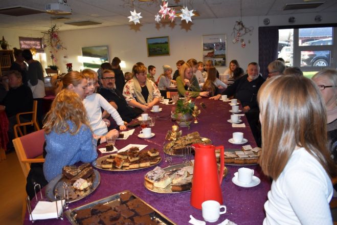
<svg viewBox="0 0 337 225">
<path fill-rule="evenodd" d="M 63 186 L 64 186 L 64 184 L 63 184 Z M 37 198 L 36 188 L 38 188 L 39 191 L 40 191 L 40 196 L 41 196 L 40 201 Z M 42 192 L 41 192 L 41 186 L 39 184 L 35 184 L 34 185 L 34 192 L 35 192 L 35 198 L 36 198 L 36 201 L 37 201 L 35 209 L 37 208 L 38 204 L 39 205 L 43 205 L 43 207 L 44 207 L 44 205 L 48 205 L 49 207 L 51 206 L 52 202 L 43 201 L 43 196 L 42 196 Z M 69 198 L 69 196 L 68 196 L 68 187 L 66 187 L 66 189 L 64 189 L 64 197 L 67 198 L 67 199 Z M 52 213 L 52 215 L 51 215 L 50 212 L 49 212 L 48 216 L 47 216 L 47 214 L 43 216 L 43 214 L 35 214 L 35 212 L 34 212 L 35 209 L 32 210 L 30 198 L 29 198 L 29 196 L 27 196 L 26 197 L 26 204 L 27 204 L 27 209 L 28 209 L 28 213 L 29 213 L 29 219 L 32 222 L 34 222 L 35 220 L 38 220 L 38 219 L 51 219 L 51 218 L 57 218 L 57 219 L 63 220 L 63 209 L 65 207 L 68 208 L 68 206 L 65 205 L 65 199 L 60 199 L 60 196 L 59 196 L 58 193 L 55 194 L 54 198 L 55 198 L 55 206 L 56 206 L 56 210 L 55 211 L 56 211 L 56 214 Z"/>
</svg>

